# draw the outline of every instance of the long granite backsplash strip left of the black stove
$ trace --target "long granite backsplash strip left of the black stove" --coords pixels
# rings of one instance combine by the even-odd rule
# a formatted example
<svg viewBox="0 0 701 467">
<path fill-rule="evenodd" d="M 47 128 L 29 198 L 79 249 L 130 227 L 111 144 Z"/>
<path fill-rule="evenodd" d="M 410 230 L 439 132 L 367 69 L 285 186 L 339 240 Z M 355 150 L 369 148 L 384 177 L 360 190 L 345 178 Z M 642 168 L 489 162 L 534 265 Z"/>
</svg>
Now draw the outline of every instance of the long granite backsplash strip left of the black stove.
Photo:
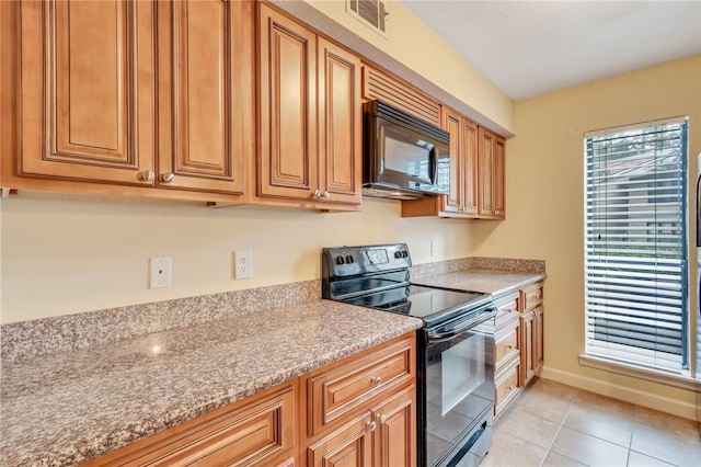
<svg viewBox="0 0 701 467">
<path fill-rule="evenodd" d="M 2 324 L 3 361 L 115 342 L 321 297 L 319 281 L 225 292 Z"/>
</svg>

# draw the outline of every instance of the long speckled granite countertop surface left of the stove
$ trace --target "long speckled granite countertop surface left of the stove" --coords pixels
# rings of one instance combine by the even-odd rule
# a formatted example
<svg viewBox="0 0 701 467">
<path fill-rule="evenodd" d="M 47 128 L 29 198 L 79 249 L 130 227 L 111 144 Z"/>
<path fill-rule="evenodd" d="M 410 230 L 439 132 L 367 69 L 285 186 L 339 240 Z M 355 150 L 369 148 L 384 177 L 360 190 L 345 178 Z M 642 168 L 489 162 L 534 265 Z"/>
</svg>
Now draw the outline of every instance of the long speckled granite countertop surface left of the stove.
<svg viewBox="0 0 701 467">
<path fill-rule="evenodd" d="M 317 299 L 3 358 L 0 465 L 74 465 L 421 324 Z"/>
</svg>

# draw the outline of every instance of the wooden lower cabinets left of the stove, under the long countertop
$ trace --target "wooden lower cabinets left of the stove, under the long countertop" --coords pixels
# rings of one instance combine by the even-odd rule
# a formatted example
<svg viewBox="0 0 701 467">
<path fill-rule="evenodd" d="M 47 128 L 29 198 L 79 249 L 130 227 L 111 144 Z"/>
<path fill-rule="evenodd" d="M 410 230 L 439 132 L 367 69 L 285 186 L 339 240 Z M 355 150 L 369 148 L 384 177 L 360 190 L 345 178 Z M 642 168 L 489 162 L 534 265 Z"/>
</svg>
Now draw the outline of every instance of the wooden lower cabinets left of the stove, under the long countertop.
<svg viewBox="0 0 701 467">
<path fill-rule="evenodd" d="M 331 390 L 314 392 L 320 381 Z M 414 467 L 415 381 L 411 332 L 84 465 Z M 330 398 L 344 402 L 322 405 Z M 314 431 L 329 408 L 341 414 Z"/>
</svg>

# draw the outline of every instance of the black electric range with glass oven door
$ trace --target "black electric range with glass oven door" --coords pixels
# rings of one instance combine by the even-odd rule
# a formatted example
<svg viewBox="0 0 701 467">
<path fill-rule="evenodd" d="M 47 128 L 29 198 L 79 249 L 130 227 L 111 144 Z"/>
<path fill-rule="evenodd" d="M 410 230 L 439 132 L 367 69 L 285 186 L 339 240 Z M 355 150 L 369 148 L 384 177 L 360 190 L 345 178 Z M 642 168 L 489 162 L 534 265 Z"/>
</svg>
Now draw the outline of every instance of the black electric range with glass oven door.
<svg viewBox="0 0 701 467">
<path fill-rule="evenodd" d="M 413 285 L 406 244 L 324 248 L 322 296 L 424 321 L 417 465 L 476 466 L 492 445 L 494 328 L 489 294 Z"/>
</svg>

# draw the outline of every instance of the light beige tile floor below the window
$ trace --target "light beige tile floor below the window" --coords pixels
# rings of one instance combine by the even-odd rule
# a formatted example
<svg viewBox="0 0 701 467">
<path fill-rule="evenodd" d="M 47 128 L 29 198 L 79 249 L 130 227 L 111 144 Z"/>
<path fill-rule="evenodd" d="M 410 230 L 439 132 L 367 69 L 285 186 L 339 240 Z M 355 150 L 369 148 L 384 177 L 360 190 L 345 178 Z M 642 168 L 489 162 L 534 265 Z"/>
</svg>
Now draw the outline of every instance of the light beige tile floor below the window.
<svg viewBox="0 0 701 467">
<path fill-rule="evenodd" d="M 696 422 L 537 379 L 495 423 L 480 467 L 701 466 Z"/>
</svg>

